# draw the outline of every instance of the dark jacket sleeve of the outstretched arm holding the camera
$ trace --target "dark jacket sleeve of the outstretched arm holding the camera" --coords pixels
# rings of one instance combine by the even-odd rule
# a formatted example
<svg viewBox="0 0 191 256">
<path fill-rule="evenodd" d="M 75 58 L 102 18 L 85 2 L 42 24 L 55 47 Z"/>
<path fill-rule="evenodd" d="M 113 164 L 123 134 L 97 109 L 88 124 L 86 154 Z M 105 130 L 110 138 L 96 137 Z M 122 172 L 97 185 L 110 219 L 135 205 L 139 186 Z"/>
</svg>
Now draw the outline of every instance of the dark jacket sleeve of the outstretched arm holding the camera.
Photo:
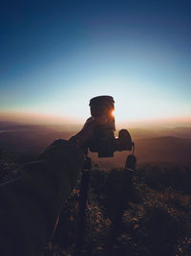
<svg viewBox="0 0 191 256">
<path fill-rule="evenodd" d="M 83 160 L 83 152 L 73 143 L 57 140 L 38 161 L 23 166 L 17 179 L 0 186 L 0 239 L 4 255 L 39 255 L 53 234 Z"/>
</svg>

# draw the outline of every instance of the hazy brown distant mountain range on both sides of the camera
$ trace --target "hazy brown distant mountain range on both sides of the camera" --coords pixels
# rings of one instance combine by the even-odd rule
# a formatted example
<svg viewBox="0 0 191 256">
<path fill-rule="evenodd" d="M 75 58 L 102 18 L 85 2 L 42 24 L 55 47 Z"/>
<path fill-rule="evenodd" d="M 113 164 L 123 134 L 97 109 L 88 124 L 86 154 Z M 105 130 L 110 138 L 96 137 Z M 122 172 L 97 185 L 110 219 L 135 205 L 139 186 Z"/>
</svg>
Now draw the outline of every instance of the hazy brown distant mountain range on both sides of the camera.
<svg viewBox="0 0 191 256">
<path fill-rule="evenodd" d="M 129 129 L 136 143 L 138 163 L 174 162 L 191 163 L 191 128 Z M 27 126 L 0 122 L 0 149 L 10 151 L 19 158 L 22 155 L 38 154 L 55 139 L 68 139 L 74 132 L 64 127 Z M 114 159 L 97 159 L 100 166 L 123 167 L 129 151 L 116 152 Z M 30 158 L 29 158 L 30 159 Z"/>
</svg>

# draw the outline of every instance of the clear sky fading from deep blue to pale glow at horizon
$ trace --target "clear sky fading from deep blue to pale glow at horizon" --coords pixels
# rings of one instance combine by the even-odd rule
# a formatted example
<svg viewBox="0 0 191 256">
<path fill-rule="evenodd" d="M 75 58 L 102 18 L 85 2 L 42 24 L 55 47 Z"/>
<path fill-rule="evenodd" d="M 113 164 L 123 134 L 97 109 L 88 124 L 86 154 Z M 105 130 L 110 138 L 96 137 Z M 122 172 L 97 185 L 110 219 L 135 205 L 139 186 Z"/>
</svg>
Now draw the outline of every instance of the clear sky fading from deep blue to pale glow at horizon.
<svg viewBox="0 0 191 256">
<path fill-rule="evenodd" d="M 82 122 L 115 99 L 118 122 L 191 119 L 191 2 L 4 1 L 0 118 Z"/>
</svg>

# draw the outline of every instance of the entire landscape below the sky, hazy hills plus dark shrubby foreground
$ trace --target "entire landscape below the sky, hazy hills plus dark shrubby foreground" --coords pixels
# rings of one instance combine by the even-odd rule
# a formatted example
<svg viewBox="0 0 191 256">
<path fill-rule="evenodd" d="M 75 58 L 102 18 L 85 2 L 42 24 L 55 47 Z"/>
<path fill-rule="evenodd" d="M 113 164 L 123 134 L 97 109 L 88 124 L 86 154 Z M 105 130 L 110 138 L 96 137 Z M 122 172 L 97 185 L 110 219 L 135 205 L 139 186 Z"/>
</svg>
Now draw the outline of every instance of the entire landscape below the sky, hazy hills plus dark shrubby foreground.
<svg viewBox="0 0 191 256">
<path fill-rule="evenodd" d="M 0 183 L 15 178 L 20 166 L 35 160 L 53 140 L 68 139 L 77 130 L 0 122 Z M 102 160 L 91 154 L 82 256 L 189 256 L 191 128 L 130 132 L 136 142 L 136 174 L 122 169 L 129 152 Z M 79 181 L 43 256 L 74 256 L 78 197 Z"/>
</svg>

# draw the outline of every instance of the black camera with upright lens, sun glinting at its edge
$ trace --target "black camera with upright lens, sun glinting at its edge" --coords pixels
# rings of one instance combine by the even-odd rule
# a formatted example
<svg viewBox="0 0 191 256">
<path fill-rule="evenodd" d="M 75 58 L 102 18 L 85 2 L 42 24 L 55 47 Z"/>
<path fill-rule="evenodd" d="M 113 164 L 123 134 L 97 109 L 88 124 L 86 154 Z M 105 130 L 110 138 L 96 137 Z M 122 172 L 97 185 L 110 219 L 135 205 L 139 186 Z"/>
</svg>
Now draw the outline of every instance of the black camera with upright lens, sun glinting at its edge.
<svg viewBox="0 0 191 256">
<path fill-rule="evenodd" d="M 88 148 L 97 152 L 98 157 L 113 157 L 115 151 L 131 151 L 133 142 L 129 132 L 121 129 L 115 137 L 115 101 L 111 96 L 98 96 L 90 101 L 91 115 L 94 118 L 105 116 L 107 122 L 95 128 Z"/>
</svg>

